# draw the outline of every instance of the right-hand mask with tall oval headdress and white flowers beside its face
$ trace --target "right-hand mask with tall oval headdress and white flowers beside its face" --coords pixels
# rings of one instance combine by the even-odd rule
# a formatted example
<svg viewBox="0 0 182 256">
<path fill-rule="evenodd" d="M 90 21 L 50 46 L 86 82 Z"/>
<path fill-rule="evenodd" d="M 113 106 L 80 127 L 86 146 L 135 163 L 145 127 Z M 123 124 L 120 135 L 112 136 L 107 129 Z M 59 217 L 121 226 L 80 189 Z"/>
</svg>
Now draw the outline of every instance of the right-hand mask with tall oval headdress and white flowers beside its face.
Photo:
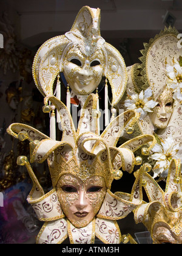
<svg viewBox="0 0 182 256">
<path fill-rule="evenodd" d="M 144 43 L 139 58 L 141 62 L 127 67 L 128 95 L 120 105 L 141 113 L 132 137 L 138 132 L 155 132 L 163 139 L 169 134 L 181 137 L 179 61 L 182 48 L 178 48 L 178 34 L 174 27 L 165 27 Z"/>
</svg>

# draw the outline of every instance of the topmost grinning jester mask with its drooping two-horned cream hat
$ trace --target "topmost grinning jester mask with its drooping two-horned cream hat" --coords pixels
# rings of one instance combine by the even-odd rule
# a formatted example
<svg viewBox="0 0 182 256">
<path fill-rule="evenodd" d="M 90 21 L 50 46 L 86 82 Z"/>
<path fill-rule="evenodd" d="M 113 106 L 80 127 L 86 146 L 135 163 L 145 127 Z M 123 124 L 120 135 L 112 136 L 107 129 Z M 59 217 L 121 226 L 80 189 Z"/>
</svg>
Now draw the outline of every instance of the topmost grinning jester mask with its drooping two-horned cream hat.
<svg viewBox="0 0 182 256">
<path fill-rule="evenodd" d="M 100 18 L 100 9 L 84 6 L 69 32 L 50 38 L 38 49 L 33 78 L 43 96 L 54 94 L 54 81 L 62 72 L 73 94 L 89 95 L 101 78 L 107 77 L 112 105 L 121 99 L 127 83 L 126 65 L 120 52 L 101 37 Z M 58 90 L 56 97 L 60 99 Z"/>
</svg>

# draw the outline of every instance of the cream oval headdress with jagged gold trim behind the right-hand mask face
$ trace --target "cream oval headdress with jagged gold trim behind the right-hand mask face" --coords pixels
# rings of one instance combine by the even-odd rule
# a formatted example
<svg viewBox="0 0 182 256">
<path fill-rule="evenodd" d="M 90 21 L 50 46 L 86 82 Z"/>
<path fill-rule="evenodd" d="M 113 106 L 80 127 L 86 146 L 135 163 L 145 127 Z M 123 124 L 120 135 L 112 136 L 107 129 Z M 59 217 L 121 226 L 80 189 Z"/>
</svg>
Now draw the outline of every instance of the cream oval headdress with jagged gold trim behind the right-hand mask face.
<svg viewBox="0 0 182 256">
<path fill-rule="evenodd" d="M 177 35 L 178 31 L 174 27 L 165 27 L 160 34 L 151 38 L 149 43 L 144 43 L 144 49 L 141 50 L 143 55 L 140 57 L 143 85 L 153 88 L 154 99 L 163 90 L 161 86 L 166 85 L 167 77 L 164 73 L 164 64 L 166 58 L 175 57 L 177 53 Z"/>
</svg>

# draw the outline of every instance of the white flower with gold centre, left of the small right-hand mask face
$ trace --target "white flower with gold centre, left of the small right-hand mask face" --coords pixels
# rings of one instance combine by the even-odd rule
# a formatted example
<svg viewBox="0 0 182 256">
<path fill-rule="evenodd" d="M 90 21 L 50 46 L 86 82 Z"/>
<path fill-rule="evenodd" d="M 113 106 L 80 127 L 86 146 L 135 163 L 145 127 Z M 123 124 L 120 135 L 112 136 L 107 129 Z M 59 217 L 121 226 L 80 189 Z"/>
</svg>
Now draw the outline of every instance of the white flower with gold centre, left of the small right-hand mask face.
<svg viewBox="0 0 182 256">
<path fill-rule="evenodd" d="M 147 115 L 147 112 L 153 112 L 154 108 L 158 102 L 150 99 L 152 97 L 152 90 L 147 88 L 145 91 L 141 91 L 140 94 L 127 91 L 129 99 L 124 101 L 124 106 L 129 109 L 136 110 L 140 113 L 140 119 L 144 118 Z"/>
</svg>

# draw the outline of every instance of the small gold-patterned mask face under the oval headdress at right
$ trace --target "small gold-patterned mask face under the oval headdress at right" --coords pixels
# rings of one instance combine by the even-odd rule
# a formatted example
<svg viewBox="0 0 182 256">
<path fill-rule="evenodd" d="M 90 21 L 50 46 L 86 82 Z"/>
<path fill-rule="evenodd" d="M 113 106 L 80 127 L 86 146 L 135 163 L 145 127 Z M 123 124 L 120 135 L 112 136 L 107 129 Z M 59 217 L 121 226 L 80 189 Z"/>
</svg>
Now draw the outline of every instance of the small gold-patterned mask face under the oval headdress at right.
<svg viewBox="0 0 182 256">
<path fill-rule="evenodd" d="M 149 117 L 153 126 L 157 129 L 165 129 L 169 123 L 173 112 L 173 98 L 169 90 L 164 90 L 157 99 L 157 106 L 153 108 L 153 112 L 149 113 Z"/>
</svg>

